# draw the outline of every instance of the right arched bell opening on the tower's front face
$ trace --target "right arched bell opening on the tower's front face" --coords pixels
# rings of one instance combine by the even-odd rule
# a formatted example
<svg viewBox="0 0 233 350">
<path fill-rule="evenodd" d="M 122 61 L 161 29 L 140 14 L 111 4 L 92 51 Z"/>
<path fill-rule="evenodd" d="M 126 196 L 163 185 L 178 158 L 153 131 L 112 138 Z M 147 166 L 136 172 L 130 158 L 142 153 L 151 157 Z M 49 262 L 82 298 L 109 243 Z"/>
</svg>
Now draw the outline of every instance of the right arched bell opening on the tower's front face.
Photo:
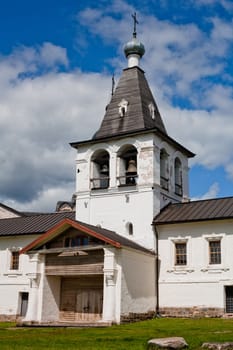
<svg viewBox="0 0 233 350">
<path fill-rule="evenodd" d="M 132 145 L 125 145 L 118 152 L 119 186 L 135 186 L 137 177 L 137 149 Z"/>
</svg>

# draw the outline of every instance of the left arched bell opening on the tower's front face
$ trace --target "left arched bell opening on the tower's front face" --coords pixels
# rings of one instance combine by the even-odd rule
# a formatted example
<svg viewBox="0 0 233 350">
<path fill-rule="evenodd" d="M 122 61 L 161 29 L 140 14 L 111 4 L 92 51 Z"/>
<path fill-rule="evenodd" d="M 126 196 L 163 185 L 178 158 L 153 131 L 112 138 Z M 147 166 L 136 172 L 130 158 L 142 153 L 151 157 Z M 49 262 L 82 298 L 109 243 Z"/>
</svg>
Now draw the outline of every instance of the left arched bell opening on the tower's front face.
<svg viewBox="0 0 233 350">
<path fill-rule="evenodd" d="M 109 153 L 105 150 L 96 151 L 91 157 L 91 189 L 109 187 Z"/>
</svg>

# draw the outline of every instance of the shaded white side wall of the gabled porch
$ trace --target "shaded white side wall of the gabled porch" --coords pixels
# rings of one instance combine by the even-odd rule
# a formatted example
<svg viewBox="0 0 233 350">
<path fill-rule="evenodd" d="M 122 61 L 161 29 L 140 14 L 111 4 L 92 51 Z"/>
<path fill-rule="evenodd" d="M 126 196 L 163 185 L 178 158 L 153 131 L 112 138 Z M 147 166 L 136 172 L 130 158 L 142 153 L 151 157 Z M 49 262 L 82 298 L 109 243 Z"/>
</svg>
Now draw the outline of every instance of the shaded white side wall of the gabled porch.
<svg viewBox="0 0 233 350">
<path fill-rule="evenodd" d="M 121 316 L 155 311 L 155 257 L 122 249 Z"/>
</svg>

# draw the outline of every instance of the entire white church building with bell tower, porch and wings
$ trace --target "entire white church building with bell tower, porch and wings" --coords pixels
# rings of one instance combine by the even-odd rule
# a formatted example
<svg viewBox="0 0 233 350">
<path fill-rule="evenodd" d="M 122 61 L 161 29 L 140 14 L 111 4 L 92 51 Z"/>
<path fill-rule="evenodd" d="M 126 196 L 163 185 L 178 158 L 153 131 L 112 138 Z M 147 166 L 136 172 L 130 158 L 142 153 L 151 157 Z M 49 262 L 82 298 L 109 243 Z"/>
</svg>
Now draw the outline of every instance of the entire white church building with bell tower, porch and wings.
<svg viewBox="0 0 233 350">
<path fill-rule="evenodd" d="M 189 201 L 194 154 L 167 134 L 135 31 L 124 52 L 100 128 L 71 143 L 75 210 L 0 205 L 0 319 L 109 325 L 233 313 L 233 198 Z"/>
</svg>

